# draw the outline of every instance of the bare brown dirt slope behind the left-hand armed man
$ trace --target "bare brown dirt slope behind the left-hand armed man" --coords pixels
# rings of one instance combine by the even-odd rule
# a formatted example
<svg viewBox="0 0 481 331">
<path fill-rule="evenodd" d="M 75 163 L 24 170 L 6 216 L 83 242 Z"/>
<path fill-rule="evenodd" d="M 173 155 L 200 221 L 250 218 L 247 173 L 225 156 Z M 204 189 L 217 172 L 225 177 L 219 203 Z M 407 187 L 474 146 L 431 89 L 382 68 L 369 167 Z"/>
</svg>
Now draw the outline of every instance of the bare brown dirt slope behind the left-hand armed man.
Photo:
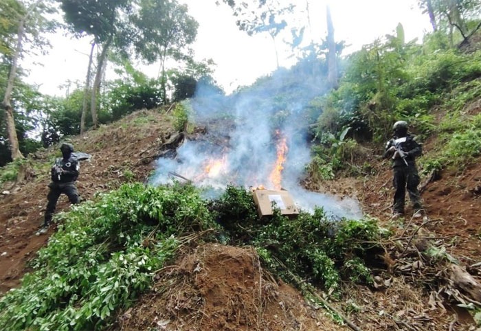
<svg viewBox="0 0 481 331">
<path fill-rule="evenodd" d="M 126 181 L 145 181 L 153 169 L 153 156 L 174 132 L 168 117 L 159 113 L 140 111 L 112 126 L 104 126 L 74 137 L 71 143 L 81 152 L 92 155 L 82 161 L 78 191 L 82 200 L 93 194 L 119 187 Z M 44 163 L 41 172 L 29 170 L 29 177 L 0 195 L 0 293 L 19 284 L 26 269 L 25 262 L 34 257 L 49 236 L 35 236 L 43 222 L 47 205 L 49 167 L 59 152 L 50 148 L 34 155 L 36 163 Z M 57 211 L 69 208 L 65 195 L 60 196 Z M 55 231 L 52 226 L 49 235 Z"/>
</svg>

